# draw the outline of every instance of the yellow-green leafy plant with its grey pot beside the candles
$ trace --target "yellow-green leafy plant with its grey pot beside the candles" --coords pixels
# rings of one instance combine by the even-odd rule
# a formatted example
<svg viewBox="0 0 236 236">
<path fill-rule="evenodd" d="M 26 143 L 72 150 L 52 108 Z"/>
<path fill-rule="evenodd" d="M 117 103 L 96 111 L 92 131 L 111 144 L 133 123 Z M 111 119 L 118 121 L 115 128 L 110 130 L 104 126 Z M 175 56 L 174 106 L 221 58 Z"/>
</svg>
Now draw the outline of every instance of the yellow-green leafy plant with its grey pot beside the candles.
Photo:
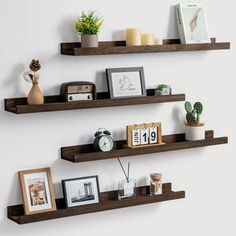
<svg viewBox="0 0 236 236">
<path fill-rule="evenodd" d="M 96 11 L 82 12 L 81 17 L 75 21 L 75 29 L 81 35 L 81 47 L 98 47 L 98 32 L 102 24 L 103 20 Z"/>
</svg>

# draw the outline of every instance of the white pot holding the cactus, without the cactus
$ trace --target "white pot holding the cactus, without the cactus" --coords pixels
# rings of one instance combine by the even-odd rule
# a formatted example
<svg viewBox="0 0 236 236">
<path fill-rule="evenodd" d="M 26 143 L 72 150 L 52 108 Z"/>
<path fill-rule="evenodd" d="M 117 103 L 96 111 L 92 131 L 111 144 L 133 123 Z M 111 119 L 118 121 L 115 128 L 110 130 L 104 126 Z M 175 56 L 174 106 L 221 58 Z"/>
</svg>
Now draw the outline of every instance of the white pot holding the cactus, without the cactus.
<svg viewBox="0 0 236 236">
<path fill-rule="evenodd" d="M 205 139 L 205 126 L 185 125 L 185 139 L 188 141 Z"/>
</svg>

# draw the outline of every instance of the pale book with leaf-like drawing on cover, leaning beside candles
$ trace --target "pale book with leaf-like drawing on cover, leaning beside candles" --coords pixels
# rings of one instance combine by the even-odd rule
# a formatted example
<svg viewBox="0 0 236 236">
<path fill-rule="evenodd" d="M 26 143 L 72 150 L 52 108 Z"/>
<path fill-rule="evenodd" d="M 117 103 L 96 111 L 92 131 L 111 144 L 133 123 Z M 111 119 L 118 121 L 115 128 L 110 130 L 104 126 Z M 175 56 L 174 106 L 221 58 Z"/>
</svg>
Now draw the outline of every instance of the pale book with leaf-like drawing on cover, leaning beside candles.
<svg viewBox="0 0 236 236">
<path fill-rule="evenodd" d="M 178 4 L 177 24 L 182 44 L 211 43 L 205 8 L 199 4 Z"/>
</svg>

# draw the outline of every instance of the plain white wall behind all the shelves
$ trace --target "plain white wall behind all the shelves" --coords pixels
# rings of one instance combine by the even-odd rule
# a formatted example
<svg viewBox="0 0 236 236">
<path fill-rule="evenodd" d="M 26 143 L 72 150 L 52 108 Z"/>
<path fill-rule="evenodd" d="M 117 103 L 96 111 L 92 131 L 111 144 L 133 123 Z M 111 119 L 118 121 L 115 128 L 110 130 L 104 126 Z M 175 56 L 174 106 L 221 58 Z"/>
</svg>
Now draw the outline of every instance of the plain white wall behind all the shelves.
<svg viewBox="0 0 236 236">
<path fill-rule="evenodd" d="M 94 57 L 61 56 L 59 44 L 75 41 L 73 19 L 82 10 L 104 16 L 101 40 L 122 39 L 120 31 L 139 26 L 162 38 L 177 37 L 172 0 L 0 0 L 0 235 L 235 235 L 235 1 L 202 1 L 211 36 L 231 41 L 230 51 Z M 108 67 L 144 66 L 147 87 L 170 83 L 175 92 L 205 105 L 204 121 L 230 144 L 124 158 L 132 177 L 148 182 L 161 172 L 186 199 L 19 226 L 6 207 L 21 203 L 17 171 L 51 167 L 57 197 L 61 179 L 99 175 L 101 191 L 115 189 L 122 172 L 116 160 L 72 164 L 60 159 L 61 146 L 92 141 L 99 127 L 125 137 L 127 124 L 161 121 L 165 134 L 183 131 L 183 103 L 77 110 L 28 115 L 4 111 L 3 99 L 26 96 L 31 85 L 22 72 L 32 58 L 42 63 L 40 86 L 58 94 L 62 82 L 95 81 L 105 91 Z"/>
</svg>

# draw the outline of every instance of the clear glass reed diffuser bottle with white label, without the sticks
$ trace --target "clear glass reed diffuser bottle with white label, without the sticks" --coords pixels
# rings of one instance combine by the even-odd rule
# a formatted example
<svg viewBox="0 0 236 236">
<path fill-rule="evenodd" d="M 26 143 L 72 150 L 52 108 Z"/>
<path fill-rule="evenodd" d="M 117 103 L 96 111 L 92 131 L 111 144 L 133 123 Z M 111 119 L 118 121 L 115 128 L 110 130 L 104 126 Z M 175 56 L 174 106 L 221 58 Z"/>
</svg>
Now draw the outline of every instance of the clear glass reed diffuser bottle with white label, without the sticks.
<svg viewBox="0 0 236 236">
<path fill-rule="evenodd" d="M 124 179 L 119 181 L 118 184 L 118 199 L 132 198 L 136 196 L 136 180 Z"/>
</svg>

